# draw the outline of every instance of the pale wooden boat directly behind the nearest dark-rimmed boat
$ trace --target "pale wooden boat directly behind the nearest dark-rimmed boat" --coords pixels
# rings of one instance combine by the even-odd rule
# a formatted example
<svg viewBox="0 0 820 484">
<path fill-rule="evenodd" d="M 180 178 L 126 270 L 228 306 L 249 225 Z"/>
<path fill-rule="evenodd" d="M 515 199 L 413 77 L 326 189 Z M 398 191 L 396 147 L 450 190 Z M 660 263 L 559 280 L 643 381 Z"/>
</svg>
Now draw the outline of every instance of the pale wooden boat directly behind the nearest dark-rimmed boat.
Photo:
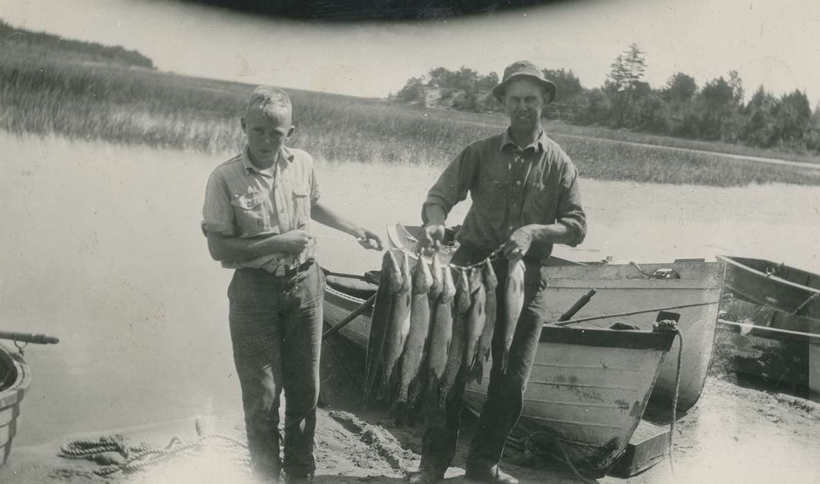
<svg viewBox="0 0 820 484">
<path fill-rule="evenodd" d="M 414 247 L 419 231 L 420 228 L 417 227 L 389 225 L 389 244 L 397 249 Z M 449 244 L 444 251 L 444 260 L 457 249 L 457 243 L 452 242 L 451 238 L 452 234 L 446 241 Z M 549 258 L 547 265 L 547 321 L 557 321 L 590 288 L 594 288 L 597 293 L 578 311 L 576 319 L 695 305 L 673 310 L 680 314 L 678 328 L 684 341 L 677 405 L 680 411 L 686 411 L 695 405 L 703 391 L 712 357 L 717 326 L 717 301 L 722 293 L 725 269 L 723 262 L 675 260 L 671 264 L 602 264 L 578 263 L 553 256 Z M 700 305 L 708 302 L 715 304 Z M 648 331 L 652 329 L 653 320 L 651 314 L 635 314 L 597 319 L 573 326 L 608 328 L 613 323 L 631 324 Z M 678 346 L 675 345 L 661 367 L 652 396 L 654 403 L 672 404 L 677 353 Z"/>
</svg>

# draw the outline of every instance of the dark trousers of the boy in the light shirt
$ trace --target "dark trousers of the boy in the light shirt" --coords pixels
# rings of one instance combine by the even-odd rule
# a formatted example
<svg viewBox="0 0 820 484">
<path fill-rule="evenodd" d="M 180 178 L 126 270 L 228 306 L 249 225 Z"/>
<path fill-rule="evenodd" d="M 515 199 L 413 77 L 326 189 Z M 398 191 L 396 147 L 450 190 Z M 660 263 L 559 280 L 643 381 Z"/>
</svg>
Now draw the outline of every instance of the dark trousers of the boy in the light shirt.
<svg viewBox="0 0 820 484">
<path fill-rule="evenodd" d="M 306 476 L 316 470 L 313 433 L 324 290 L 325 277 L 317 264 L 285 277 L 237 269 L 230 282 L 230 337 L 251 468 L 258 477 L 277 477 L 282 468 L 278 426 L 283 389 L 285 472 Z"/>
</svg>

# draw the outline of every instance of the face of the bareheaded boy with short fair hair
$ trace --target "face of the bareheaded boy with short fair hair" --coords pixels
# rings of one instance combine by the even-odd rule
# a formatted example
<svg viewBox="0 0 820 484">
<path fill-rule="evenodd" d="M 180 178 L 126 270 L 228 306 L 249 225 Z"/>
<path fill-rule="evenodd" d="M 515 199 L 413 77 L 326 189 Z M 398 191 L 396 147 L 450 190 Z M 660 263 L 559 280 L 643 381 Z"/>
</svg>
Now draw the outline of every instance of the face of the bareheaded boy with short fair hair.
<svg viewBox="0 0 820 484">
<path fill-rule="evenodd" d="M 262 110 L 252 106 L 242 118 L 242 131 L 248 137 L 251 160 L 262 165 L 276 162 L 285 140 L 294 132 L 287 108 Z"/>
</svg>

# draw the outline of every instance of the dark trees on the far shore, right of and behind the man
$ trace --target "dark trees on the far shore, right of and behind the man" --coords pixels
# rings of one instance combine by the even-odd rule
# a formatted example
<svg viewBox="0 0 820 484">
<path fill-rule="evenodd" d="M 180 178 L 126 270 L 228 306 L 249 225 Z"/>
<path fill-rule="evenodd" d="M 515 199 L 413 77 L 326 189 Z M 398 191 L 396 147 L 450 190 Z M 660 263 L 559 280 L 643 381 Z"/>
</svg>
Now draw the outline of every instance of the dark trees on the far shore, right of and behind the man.
<svg viewBox="0 0 820 484">
<path fill-rule="evenodd" d="M 544 76 L 558 86 L 558 97 L 544 116 L 586 126 L 820 154 L 820 104 L 812 110 L 804 91 L 777 97 L 761 85 L 746 102 L 735 70 L 702 86 L 692 76 L 676 72 L 663 87 L 653 88 L 644 80 L 645 69 L 645 52 L 635 43 L 618 54 L 598 88 L 585 88 L 572 70 L 544 69 Z M 480 75 L 467 67 L 436 67 L 408 79 L 391 97 L 425 103 L 430 89 L 438 89 L 440 101 L 455 109 L 502 111 L 490 94 L 498 82 L 495 72 Z"/>
</svg>

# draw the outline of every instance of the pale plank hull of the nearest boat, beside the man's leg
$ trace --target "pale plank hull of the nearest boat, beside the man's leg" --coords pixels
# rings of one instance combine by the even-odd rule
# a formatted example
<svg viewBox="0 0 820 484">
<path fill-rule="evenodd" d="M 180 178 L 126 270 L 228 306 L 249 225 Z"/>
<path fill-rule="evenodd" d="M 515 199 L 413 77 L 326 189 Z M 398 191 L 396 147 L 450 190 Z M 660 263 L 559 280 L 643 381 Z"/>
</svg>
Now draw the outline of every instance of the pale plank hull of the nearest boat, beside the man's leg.
<svg viewBox="0 0 820 484">
<path fill-rule="evenodd" d="M 672 334 L 544 327 L 514 438 L 603 475 L 617 462 L 644 414 Z M 482 383 L 467 385 L 467 407 L 481 412 Z"/>
</svg>

